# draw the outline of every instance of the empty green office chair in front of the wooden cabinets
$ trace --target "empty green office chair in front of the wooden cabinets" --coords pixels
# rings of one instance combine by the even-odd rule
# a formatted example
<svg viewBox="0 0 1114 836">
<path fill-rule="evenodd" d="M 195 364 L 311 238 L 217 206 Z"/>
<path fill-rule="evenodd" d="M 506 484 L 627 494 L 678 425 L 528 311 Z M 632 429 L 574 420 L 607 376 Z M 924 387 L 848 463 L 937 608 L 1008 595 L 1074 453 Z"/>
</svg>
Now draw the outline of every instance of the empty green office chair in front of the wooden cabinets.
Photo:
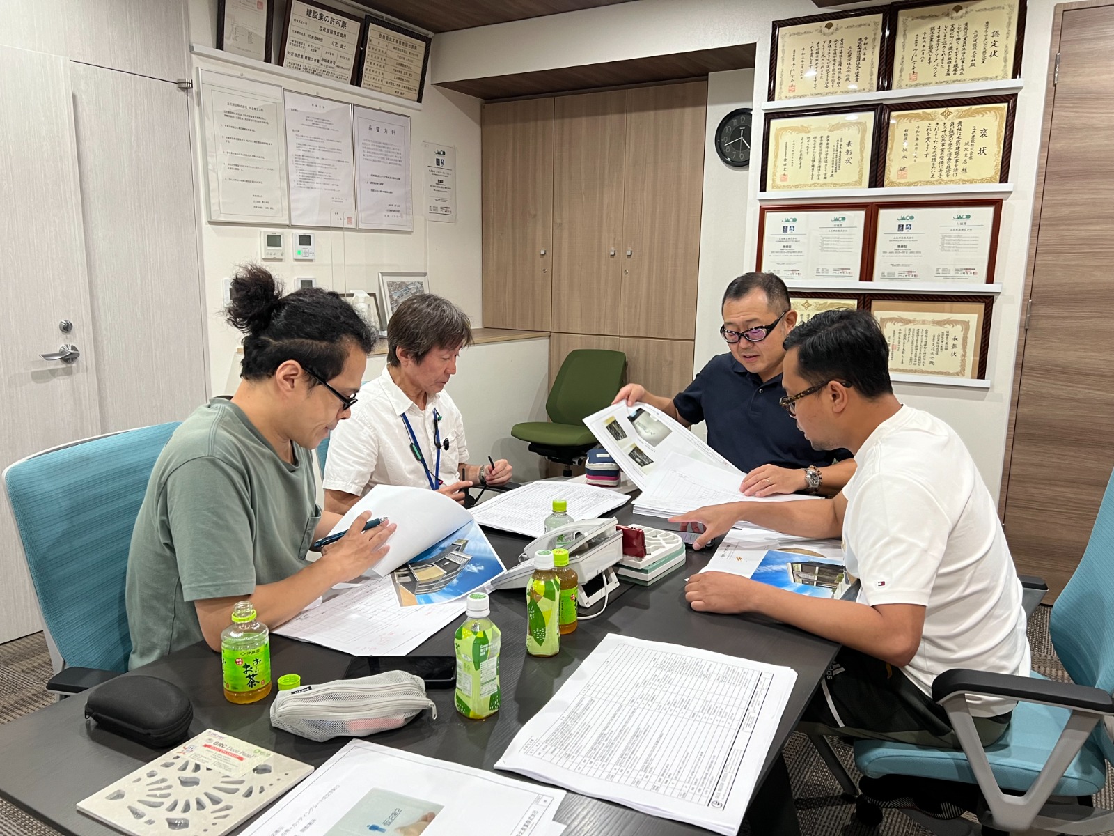
<svg viewBox="0 0 1114 836">
<path fill-rule="evenodd" d="M 588 450 L 598 444 L 584 419 L 610 406 L 623 388 L 625 371 L 626 354 L 622 351 L 569 351 L 546 400 L 549 421 L 516 424 L 510 435 L 528 441 L 530 453 L 565 465 L 565 475 L 571 476 L 573 465 L 583 464 Z"/>
</svg>

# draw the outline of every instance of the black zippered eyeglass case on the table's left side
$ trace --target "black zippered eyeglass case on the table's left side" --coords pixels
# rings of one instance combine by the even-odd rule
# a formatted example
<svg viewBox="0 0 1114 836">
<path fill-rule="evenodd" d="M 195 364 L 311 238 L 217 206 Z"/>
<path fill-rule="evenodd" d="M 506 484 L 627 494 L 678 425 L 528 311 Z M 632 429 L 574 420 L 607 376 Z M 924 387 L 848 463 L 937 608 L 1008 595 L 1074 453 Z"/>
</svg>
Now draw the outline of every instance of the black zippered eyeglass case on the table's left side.
<svg viewBox="0 0 1114 836">
<path fill-rule="evenodd" d="M 106 731 L 166 749 L 189 737 L 194 707 L 175 684 L 155 677 L 117 677 L 89 691 L 85 716 Z"/>
</svg>

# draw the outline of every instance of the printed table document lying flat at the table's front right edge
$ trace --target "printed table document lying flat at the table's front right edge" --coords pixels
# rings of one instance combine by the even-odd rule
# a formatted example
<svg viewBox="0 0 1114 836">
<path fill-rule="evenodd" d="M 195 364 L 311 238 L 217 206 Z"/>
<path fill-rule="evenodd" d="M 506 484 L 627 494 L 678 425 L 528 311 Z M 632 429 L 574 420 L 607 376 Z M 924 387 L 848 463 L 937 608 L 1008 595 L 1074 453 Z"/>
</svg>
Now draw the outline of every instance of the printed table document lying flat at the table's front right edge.
<svg viewBox="0 0 1114 836">
<path fill-rule="evenodd" d="M 610 633 L 496 768 L 733 836 L 795 680 L 790 668 Z"/>
</svg>

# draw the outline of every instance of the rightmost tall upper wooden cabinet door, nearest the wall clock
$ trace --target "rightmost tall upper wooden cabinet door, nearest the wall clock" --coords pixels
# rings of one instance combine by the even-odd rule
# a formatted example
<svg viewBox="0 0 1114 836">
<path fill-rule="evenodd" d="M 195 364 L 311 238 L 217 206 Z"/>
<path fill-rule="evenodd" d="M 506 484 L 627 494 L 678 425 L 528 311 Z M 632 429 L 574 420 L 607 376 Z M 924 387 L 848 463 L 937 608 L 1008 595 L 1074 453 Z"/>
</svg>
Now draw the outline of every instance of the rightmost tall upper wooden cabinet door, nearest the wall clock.
<svg viewBox="0 0 1114 836">
<path fill-rule="evenodd" d="M 695 337 L 706 110 L 707 81 L 627 91 L 620 333 Z"/>
</svg>

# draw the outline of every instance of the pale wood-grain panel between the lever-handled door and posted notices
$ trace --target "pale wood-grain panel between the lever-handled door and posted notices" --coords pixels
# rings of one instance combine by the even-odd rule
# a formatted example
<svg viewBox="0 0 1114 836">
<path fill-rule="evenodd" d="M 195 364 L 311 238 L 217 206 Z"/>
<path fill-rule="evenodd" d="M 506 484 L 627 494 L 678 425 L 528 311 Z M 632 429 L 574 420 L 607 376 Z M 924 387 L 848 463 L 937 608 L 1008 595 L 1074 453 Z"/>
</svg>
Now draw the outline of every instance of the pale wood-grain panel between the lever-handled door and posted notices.
<svg viewBox="0 0 1114 836">
<path fill-rule="evenodd" d="M 208 392 L 189 96 L 71 76 L 102 431 L 182 420 Z"/>
</svg>

